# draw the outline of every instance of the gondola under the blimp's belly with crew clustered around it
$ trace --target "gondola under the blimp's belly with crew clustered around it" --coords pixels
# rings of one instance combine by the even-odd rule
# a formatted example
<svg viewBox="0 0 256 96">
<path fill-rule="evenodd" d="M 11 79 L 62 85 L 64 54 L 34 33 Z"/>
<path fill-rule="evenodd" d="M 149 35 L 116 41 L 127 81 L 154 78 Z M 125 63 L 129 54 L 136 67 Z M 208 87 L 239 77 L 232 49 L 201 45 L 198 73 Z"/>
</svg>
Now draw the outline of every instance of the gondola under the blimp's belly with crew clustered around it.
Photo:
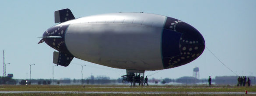
<svg viewBox="0 0 256 96">
<path fill-rule="evenodd" d="M 136 83 L 139 83 L 139 86 L 143 86 L 143 81 L 144 81 L 144 72 L 145 70 L 130 70 L 126 69 L 126 75 L 122 75 L 123 77 L 123 82 L 130 82 L 131 86 L 136 85 Z"/>
</svg>

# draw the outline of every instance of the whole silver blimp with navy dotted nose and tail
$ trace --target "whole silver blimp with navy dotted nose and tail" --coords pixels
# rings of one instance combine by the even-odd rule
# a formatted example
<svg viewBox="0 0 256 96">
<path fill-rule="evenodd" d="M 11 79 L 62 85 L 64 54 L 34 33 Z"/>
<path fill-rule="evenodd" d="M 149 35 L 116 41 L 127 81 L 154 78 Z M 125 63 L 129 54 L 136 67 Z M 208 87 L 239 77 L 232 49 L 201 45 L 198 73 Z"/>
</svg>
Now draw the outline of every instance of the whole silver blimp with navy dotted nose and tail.
<svg viewBox="0 0 256 96">
<path fill-rule="evenodd" d="M 73 58 L 126 69 L 126 80 L 148 70 L 188 64 L 204 51 L 196 28 L 163 15 L 119 12 L 75 18 L 70 9 L 54 12 L 55 23 L 39 43 L 54 48 L 53 63 L 68 66 Z M 136 80 L 135 80 L 136 81 Z M 133 79 L 134 82 L 134 79 Z"/>
</svg>

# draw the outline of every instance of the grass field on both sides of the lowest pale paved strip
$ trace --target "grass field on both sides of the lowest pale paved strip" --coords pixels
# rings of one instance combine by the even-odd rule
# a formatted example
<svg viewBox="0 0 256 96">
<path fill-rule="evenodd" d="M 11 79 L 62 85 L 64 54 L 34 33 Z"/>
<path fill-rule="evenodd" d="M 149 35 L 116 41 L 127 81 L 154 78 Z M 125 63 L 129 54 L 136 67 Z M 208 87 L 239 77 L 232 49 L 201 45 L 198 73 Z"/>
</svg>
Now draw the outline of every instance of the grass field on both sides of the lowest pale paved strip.
<svg viewBox="0 0 256 96">
<path fill-rule="evenodd" d="M 76 91 L 76 92 L 256 92 L 256 86 L 251 87 L 237 87 L 237 86 L 212 86 L 207 87 L 204 85 L 194 86 L 136 86 L 130 87 L 127 85 L 76 85 L 76 86 L 53 86 L 53 85 L 28 85 L 28 86 L 0 86 L 0 91 Z M 51 93 L 2 93 L 2 96 L 134 96 L 134 94 L 51 94 Z M 136 96 L 151 96 L 151 94 L 135 94 Z M 159 96 L 174 95 L 183 96 L 185 94 L 152 94 Z M 193 96 L 193 95 L 192 95 Z M 206 96 L 194 95 L 194 96 Z M 214 95 L 223 96 L 223 95 Z M 230 95 L 227 95 L 230 96 Z"/>
</svg>

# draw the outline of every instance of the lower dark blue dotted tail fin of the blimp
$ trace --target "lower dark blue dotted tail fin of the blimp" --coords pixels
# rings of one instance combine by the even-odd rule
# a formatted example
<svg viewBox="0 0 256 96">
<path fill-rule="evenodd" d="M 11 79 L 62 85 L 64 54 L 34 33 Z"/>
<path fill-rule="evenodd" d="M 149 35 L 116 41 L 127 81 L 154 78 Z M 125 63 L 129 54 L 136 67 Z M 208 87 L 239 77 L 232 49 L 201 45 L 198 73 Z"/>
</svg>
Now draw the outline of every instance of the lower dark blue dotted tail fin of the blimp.
<svg viewBox="0 0 256 96">
<path fill-rule="evenodd" d="M 61 52 L 57 52 L 57 51 L 53 52 L 53 63 L 57 64 L 57 65 L 62 65 L 62 66 L 67 67 L 73 58 L 74 58 L 74 56 L 66 54 L 66 53 L 61 53 Z"/>
</svg>

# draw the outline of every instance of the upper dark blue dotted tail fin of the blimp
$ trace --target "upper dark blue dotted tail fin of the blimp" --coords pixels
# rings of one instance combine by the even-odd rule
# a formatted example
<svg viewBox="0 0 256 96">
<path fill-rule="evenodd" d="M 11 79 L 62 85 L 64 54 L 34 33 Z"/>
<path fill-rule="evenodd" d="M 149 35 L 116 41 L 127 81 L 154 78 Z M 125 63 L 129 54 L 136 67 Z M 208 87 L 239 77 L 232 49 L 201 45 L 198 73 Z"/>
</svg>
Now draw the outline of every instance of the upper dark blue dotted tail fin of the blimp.
<svg viewBox="0 0 256 96">
<path fill-rule="evenodd" d="M 54 19 L 55 19 L 55 23 L 59 23 L 59 22 L 62 23 L 65 21 L 75 19 L 75 17 L 72 14 L 70 9 L 62 9 L 62 10 L 56 10 L 54 12 Z"/>
</svg>

